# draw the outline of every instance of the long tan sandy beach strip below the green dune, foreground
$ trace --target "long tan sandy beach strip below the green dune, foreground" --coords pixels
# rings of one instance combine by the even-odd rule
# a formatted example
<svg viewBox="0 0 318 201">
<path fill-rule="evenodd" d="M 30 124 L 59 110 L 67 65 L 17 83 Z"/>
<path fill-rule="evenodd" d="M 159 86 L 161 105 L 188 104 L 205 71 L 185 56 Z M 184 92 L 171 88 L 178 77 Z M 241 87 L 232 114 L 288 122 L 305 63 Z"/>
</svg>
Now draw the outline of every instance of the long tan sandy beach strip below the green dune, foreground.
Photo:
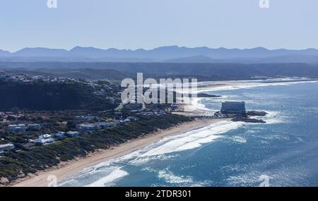
<svg viewBox="0 0 318 201">
<path fill-rule="evenodd" d="M 95 166 L 98 163 L 109 161 L 111 159 L 116 159 L 120 156 L 130 154 L 133 151 L 147 147 L 149 144 L 160 141 L 164 137 L 170 137 L 177 134 L 182 134 L 184 132 L 189 132 L 192 130 L 197 130 L 201 127 L 206 127 L 216 122 L 228 121 L 229 119 L 204 119 L 204 120 L 194 120 L 192 122 L 185 122 L 180 125 L 176 125 L 168 128 L 167 130 L 159 130 L 153 132 L 146 136 L 140 137 L 138 139 L 125 142 L 124 144 L 119 144 L 115 147 L 110 147 L 110 149 L 101 149 L 93 153 L 88 154 L 86 157 L 73 159 L 71 161 L 66 161 L 60 163 L 58 166 L 49 168 L 46 171 L 39 171 L 35 174 L 30 174 L 25 178 L 20 178 L 15 180 L 9 186 L 13 187 L 45 187 L 50 183 L 47 180 L 49 176 L 57 176 L 57 182 L 65 180 L 71 176 L 75 176 L 77 173 L 83 171 L 83 169 L 90 166 Z"/>
</svg>

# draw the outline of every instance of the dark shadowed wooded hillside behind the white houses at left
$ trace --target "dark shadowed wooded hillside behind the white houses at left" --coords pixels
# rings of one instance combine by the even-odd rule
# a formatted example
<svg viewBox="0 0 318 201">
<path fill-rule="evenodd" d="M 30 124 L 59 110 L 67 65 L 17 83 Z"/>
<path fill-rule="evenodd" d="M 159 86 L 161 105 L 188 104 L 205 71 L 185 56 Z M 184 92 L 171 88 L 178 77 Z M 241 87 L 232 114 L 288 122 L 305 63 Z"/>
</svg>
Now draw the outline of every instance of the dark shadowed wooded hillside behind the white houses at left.
<svg viewBox="0 0 318 201">
<path fill-rule="evenodd" d="M 107 110 L 115 105 L 93 95 L 93 88 L 78 82 L 0 81 L 0 110 Z"/>
</svg>

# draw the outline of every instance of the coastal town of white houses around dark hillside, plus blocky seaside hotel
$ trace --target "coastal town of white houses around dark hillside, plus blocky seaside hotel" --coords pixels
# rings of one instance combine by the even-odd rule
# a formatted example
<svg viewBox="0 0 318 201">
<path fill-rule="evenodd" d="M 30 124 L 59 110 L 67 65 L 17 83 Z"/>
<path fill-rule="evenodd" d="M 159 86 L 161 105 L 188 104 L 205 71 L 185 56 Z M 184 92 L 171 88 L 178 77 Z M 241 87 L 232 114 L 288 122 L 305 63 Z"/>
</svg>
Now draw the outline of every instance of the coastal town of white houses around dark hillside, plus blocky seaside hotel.
<svg viewBox="0 0 318 201">
<path fill-rule="evenodd" d="M 0 81 L 4 82 L 80 82 L 94 89 L 96 96 L 102 96 L 110 103 L 119 104 L 120 88 L 110 81 L 91 81 L 78 79 L 65 79 L 63 77 L 51 77 L 28 74 L 12 74 L 4 70 L 1 71 Z M 102 84 L 100 84 L 102 82 Z M 112 95 L 107 96 L 109 91 Z M 114 93 L 115 91 L 115 93 Z M 206 94 L 200 94 L 200 97 L 206 97 Z M 211 97 L 209 95 L 208 97 Z M 212 96 L 218 97 L 218 96 Z M 46 146 L 60 140 L 70 137 L 80 137 L 86 134 L 107 130 L 112 127 L 129 124 L 129 122 L 139 120 L 141 116 L 162 116 L 166 113 L 182 114 L 182 105 L 142 105 L 126 104 L 120 110 L 99 111 L 90 113 L 88 111 L 29 111 L 12 108 L 11 111 L 0 113 L 0 156 L 4 155 L 6 150 L 20 151 L 35 146 Z M 245 114 L 244 102 L 225 102 L 217 113 L 195 113 L 191 116 L 196 118 L 226 118 L 227 114 Z M 187 113 L 188 115 L 189 113 Z M 249 113 L 250 115 L 252 113 Z M 254 114 L 255 115 L 255 114 Z M 261 116 L 265 115 L 264 113 Z M 242 118 L 241 118 L 242 120 Z"/>
</svg>

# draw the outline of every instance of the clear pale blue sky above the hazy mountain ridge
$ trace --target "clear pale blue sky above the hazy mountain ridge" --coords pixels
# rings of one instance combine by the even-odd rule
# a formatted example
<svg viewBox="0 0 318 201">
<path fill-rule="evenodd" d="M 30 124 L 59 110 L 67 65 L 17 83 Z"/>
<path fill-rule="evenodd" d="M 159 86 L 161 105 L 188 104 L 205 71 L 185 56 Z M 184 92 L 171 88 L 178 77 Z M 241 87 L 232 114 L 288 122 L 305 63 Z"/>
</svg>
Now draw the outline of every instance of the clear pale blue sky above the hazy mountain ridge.
<svg viewBox="0 0 318 201">
<path fill-rule="evenodd" d="M 318 49 L 317 0 L 0 0 L 0 50 Z"/>
</svg>

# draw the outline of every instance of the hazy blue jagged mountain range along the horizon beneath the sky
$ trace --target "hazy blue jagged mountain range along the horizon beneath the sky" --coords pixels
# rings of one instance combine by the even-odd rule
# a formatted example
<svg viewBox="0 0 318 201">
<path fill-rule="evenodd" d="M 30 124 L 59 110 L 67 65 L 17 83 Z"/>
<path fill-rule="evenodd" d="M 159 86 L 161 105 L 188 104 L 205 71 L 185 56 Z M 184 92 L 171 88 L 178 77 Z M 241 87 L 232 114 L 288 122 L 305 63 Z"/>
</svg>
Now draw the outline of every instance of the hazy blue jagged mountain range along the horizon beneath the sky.
<svg viewBox="0 0 318 201">
<path fill-rule="evenodd" d="M 0 50 L 0 61 L 41 62 L 170 62 L 170 63 L 318 63 L 318 50 L 213 49 L 165 46 L 153 50 L 107 50 L 74 47 L 71 50 L 25 47 L 17 52 Z"/>
</svg>

